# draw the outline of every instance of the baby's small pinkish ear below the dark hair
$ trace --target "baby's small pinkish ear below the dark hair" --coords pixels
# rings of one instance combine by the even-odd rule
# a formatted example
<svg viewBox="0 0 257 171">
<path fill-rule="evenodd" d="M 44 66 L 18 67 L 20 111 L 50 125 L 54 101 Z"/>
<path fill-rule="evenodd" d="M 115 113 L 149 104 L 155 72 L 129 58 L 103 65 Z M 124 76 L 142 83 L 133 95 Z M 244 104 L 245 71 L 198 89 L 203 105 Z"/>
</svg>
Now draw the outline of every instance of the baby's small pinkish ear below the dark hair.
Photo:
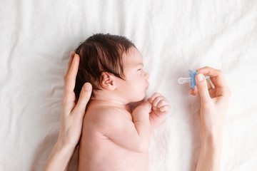
<svg viewBox="0 0 257 171">
<path fill-rule="evenodd" d="M 106 90 L 115 90 L 116 88 L 116 79 L 114 74 L 112 73 L 107 73 L 103 72 L 101 73 L 101 79 L 100 79 L 100 84 L 101 87 L 106 89 Z"/>
</svg>

